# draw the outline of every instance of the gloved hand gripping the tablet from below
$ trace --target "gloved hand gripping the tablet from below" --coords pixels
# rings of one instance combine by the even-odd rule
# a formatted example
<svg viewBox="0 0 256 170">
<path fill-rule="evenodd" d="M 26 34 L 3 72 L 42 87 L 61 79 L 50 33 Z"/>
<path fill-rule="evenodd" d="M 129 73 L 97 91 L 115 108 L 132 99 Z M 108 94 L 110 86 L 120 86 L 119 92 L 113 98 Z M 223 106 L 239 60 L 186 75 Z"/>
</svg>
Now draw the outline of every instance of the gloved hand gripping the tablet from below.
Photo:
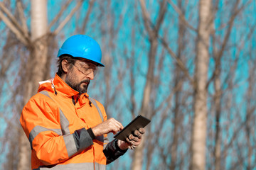
<svg viewBox="0 0 256 170">
<path fill-rule="evenodd" d="M 122 140 L 118 140 L 117 144 L 120 149 L 135 149 L 140 142 L 142 142 L 142 135 L 145 133 L 144 128 L 139 128 L 139 130 L 135 130 L 133 134 L 127 137 L 127 141 L 124 142 Z"/>
</svg>

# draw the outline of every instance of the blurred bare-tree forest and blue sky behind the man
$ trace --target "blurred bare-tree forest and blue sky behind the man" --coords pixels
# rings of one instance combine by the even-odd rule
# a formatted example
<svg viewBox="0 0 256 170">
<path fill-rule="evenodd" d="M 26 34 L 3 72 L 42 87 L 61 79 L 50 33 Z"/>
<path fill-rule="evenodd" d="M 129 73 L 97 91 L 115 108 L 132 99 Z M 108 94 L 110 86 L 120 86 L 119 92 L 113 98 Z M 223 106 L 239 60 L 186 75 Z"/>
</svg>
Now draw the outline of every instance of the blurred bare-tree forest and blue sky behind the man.
<svg viewBox="0 0 256 170">
<path fill-rule="evenodd" d="M 102 47 L 108 117 L 151 119 L 107 169 L 256 169 L 255 26 L 253 0 L 1 0 L 1 169 L 30 169 L 21 110 L 75 34 Z"/>
</svg>

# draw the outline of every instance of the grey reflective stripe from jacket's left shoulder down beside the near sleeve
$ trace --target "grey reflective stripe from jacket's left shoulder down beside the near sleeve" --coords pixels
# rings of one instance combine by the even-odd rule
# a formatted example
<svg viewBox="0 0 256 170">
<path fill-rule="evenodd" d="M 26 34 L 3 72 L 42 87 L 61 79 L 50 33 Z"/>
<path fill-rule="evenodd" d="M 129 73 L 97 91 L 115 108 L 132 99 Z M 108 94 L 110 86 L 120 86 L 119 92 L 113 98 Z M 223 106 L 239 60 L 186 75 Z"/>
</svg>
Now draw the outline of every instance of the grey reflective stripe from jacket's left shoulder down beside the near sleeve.
<svg viewBox="0 0 256 170">
<path fill-rule="evenodd" d="M 48 96 L 48 98 L 51 98 L 50 95 L 48 94 L 48 91 L 40 91 L 39 93 Z M 51 98 L 51 99 L 53 100 L 53 98 Z M 70 134 L 70 130 L 68 128 L 69 121 L 65 117 L 63 111 L 61 111 L 60 108 L 59 108 L 59 113 L 60 113 L 60 126 L 61 126 L 62 133 L 63 133 L 63 135 L 68 135 L 68 134 Z"/>
</svg>

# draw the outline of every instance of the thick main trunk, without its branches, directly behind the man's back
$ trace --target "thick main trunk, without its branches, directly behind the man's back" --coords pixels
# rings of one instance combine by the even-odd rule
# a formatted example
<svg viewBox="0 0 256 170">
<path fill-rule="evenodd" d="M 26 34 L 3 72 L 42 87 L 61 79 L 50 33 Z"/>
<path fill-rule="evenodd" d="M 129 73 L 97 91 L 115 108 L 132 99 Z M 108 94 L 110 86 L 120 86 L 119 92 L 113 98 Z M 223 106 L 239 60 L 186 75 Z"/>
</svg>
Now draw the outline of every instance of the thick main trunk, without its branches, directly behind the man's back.
<svg viewBox="0 0 256 170">
<path fill-rule="evenodd" d="M 26 104 L 29 98 L 36 94 L 38 82 L 46 78 L 47 63 L 47 0 L 31 0 L 31 45 L 28 47 L 30 56 L 26 63 L 26 74 L 23 77 L 23 85 L 26 92 L 23 96 L 23 103 Z M 24 132 L 20 133 L 20 149 L 18 170 L 31 169 L 31 149 Z"/>
</svg>

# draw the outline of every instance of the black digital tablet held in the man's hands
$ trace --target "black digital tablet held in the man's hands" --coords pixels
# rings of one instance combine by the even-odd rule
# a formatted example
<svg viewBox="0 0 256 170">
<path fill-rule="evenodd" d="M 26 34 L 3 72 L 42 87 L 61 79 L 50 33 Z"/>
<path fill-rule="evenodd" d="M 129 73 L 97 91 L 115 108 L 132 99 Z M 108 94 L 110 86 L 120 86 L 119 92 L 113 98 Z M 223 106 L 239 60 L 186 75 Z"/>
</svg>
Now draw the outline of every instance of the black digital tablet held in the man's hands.
<svg viewBox="0 0 256 170">
<path fill-rule="evenodd" d="M 132 122 L 130 122 L 126 127 L 124 127 L 117 135 L 114 135 L 114 138 L 117 140 L 126 141 L 128 135 L 132 134 L 135 130 L 139 130 L 139 128 L 144 128 L 147 124 L 150 123 L 151 120 L 145 118 L 142 115 L 138 115 Z"/>
</svg>

